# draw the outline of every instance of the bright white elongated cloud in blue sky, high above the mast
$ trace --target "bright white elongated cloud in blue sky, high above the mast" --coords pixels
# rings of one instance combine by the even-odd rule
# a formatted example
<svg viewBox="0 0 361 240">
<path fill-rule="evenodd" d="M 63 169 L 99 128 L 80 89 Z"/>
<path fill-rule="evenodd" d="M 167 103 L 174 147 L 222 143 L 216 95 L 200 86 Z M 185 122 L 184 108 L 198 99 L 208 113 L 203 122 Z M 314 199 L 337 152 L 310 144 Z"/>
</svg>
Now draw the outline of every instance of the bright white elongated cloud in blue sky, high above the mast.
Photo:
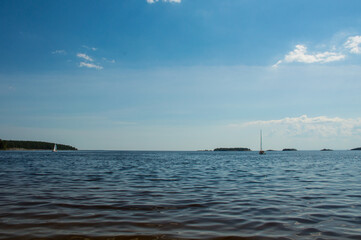
<svg viewBox="0 0 361 240">
<path fill-rule="evenodd" d="M 300 63 L 327 63 L 340 61 L 345 59 L 345 55 L 336 52 L 321 52 L 308 54 L 307 47 L 305 45 L 298 44 L 295 49 L 285 55 L 283 60 L 279 60 L 273 67 L 277 67 L 279 64 L 300 62 Z"/>
</svg>

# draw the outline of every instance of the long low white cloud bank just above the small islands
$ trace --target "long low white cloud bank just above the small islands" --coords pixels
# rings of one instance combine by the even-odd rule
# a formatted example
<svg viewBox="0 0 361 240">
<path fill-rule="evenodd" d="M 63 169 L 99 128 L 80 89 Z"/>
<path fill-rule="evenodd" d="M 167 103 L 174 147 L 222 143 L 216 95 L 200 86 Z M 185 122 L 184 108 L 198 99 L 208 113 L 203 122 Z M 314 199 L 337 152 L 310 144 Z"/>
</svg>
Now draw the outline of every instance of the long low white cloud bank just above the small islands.
<svg viewBox="0 0 361 240">
<path fill-rule="evenodd" d="M 307 115 L 302 115 L 300 117 L 286 117 L 278 120 L 251 121 L 240 126 L 270 127 L 270 129 L 277 131 L 277 134 L 288 136 L 308 135 L 331 137 L 361 135 L 361 118 L 345 119 L 339 117 L 308 117 Z"/>
</svg>

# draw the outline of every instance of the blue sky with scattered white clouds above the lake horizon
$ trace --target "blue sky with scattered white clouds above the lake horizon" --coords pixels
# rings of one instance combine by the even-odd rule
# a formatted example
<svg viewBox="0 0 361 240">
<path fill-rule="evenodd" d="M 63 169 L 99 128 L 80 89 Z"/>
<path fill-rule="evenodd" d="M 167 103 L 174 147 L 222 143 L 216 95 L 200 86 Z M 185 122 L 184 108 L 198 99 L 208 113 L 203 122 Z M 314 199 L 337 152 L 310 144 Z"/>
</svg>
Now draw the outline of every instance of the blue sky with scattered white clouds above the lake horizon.
<svg viewBox="0 0 361 240">
<path fill-rule="evenodd" d="M 361 1 L 2 0 L 0 138 L 361 146 Z"/>
</svg>

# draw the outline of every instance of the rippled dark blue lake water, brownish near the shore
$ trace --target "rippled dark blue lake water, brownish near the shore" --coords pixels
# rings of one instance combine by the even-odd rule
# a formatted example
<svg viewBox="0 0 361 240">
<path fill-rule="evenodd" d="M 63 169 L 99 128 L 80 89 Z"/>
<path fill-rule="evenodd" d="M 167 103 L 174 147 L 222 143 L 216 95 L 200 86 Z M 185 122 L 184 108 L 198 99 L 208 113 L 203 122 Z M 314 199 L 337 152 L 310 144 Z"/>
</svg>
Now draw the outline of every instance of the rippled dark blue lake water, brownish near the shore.
<svg viewBox="0 0 361 240">
<path fill-rule="evenodd" d="M 361 151 L 3 151 L 0 239 L 361 239 Z"/>
</svg>

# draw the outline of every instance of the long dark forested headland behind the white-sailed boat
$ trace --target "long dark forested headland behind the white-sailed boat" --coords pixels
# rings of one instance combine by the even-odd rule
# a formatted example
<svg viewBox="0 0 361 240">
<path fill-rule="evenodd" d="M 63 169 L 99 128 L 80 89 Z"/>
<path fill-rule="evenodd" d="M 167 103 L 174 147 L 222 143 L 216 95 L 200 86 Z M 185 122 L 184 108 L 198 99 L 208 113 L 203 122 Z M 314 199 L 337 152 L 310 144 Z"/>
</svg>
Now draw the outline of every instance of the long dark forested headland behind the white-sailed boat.
<svg viewBox="0 0 361 240">
<path fill-rule="evenodd" d="M 55 143 L 39 142 L 39 141 L 15 141 L 15 140 L 1 140 L 0 150 L 52 150 Z M 58 150 L 78 150 L 75 147 L 56 144 Z"/>
</svg>

